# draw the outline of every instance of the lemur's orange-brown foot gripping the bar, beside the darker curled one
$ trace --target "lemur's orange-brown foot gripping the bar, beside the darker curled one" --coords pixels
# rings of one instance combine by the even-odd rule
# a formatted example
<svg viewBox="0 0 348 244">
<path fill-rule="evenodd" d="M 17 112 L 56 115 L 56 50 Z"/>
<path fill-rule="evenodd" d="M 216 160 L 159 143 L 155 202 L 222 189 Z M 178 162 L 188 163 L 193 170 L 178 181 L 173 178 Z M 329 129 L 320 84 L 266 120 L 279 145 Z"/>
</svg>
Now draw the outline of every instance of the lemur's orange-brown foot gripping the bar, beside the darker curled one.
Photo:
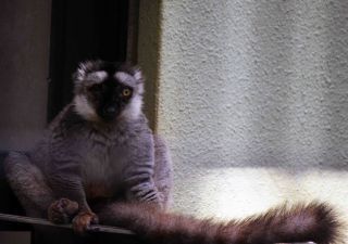
<svg viewBox="0 0 348 244">
<path fill-rule="evenodd" d="M 92 211 L 80 211 L 73 219 L 74 231 L 83 234 L 86 231 L 97 231 L 90 224 L 98 223 L 98 217 Z"/>
</svg>

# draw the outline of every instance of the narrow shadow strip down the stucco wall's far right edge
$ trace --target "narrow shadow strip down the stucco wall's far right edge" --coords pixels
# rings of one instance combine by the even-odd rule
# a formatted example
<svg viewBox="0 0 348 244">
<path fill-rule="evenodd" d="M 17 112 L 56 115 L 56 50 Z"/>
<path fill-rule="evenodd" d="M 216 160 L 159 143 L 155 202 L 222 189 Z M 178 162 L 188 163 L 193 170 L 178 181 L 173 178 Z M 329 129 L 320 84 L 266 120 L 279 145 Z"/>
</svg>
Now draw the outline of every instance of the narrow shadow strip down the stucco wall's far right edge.
<svg viewBox="0 0 348 244">
<path fill-rule="evenodd" d="M 327 151 L 335 151 L 338 162 L 331 162 L 331 155 L 324 155 L 330 167 L 347 169 L 348 167 L 348 1 L 330 1 L 326 10 L 328 47 L 325 60 L 327 75 L 323 77 L 327 90 L 325 100 L 328 103 L 330 143 Z"/>
</svg>

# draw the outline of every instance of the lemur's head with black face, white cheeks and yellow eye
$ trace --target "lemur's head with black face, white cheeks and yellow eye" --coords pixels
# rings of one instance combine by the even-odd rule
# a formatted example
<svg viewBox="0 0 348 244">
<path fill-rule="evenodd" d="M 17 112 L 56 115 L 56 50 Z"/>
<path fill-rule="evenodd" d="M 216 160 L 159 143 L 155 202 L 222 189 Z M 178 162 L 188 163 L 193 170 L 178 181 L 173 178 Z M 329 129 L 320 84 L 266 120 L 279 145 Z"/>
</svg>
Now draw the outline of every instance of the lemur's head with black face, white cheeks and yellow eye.
<svg viewBox="0 0 348 244">
<path fill-rule="evenodd" d="M 135 119 L 142 104 L 138 68 L 103 61 L 85 62 L 75 74 L 75 111 L 91 121 Z"/>
</svg>

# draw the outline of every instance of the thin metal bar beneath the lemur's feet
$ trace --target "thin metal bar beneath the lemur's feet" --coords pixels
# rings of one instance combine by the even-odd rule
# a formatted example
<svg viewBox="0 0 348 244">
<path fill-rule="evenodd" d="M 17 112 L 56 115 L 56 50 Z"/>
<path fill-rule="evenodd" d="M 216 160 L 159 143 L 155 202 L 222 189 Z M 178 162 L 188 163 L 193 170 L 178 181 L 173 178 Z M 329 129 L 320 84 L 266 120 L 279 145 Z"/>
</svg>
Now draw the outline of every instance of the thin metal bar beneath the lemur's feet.
<svg viewBox="0 0 348 244">
<path fill-rule="evenodd" d="M 22 223 L 33 223 L 33 224 L 40 224 L 40 226 L 48 226 L 48 227 L 58 227 L 58 228 L 66 228 L 73 229 L 72 224 L 55 224 L 45 219 L 39 218 L 32 218 L 25 216 L 17 216 L 17 215 L 8 215 L 8 214 L 0 214 L 0 220 L 10 221 L 10 222 L 22 222 Z M 100 224 L 92 224 L 90 232 L 105 232 L 105 233 L 114 233 L 114 234 L 134 234 L 134 232 L 117 228 L 117 227 L 108 227 L 108 226 L 100 226 Z"/>
</svg>

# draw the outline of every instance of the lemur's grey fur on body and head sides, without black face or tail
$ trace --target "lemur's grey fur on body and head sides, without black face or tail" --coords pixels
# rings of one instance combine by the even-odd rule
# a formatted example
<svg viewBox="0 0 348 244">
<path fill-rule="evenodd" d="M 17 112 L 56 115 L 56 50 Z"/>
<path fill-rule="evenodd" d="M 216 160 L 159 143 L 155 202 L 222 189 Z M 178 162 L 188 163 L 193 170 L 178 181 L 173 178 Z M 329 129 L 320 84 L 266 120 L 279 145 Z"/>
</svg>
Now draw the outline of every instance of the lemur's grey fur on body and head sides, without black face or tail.
<svg viewBox="0 0 348 244">
<path fill-rule="evenodd" d="M 103 123 L 86 95 L 96 77 L 89 74 L 102 67 L 102 61 L 80 64 L 74 101 L 49 125 L 34 150 L 7 157 L 7 177 L 28 215 L 46 216 L 50 204 L 61 197 L 77 202 L 80 211 L 92 210 L 89 202 L 99 197 L 148 202 L 159 208 L 170 202 L 171 159 L 141 112 L 141 73 L 119 66 L 116 72 L 129 75 L 119 77 L 127 78 L 123 82 L 133 86 L 134 94 L 114 121 Z M 104 74 L 96 77 L 100 78 Z M 83 106 L 76 103 L 78 95 L 86 103 Z"/>
</svg>

